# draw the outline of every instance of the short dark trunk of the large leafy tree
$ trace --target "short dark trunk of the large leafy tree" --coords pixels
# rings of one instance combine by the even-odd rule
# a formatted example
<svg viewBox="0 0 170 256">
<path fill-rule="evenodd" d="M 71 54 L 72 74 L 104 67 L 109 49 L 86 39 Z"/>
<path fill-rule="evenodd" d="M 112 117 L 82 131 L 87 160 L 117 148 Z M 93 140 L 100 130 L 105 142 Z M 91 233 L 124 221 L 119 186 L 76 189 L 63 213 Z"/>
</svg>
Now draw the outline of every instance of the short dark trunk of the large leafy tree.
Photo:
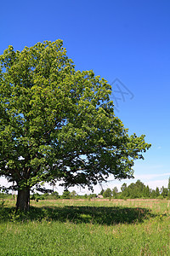
<svg viewBox="0 0 170 256">
<path fill-rule="evenodd" d="M 25 212 L 30 210 L 30 188 L 29 187 L 18 190 L 16 210 L 25 211 Z"/>
</svg>

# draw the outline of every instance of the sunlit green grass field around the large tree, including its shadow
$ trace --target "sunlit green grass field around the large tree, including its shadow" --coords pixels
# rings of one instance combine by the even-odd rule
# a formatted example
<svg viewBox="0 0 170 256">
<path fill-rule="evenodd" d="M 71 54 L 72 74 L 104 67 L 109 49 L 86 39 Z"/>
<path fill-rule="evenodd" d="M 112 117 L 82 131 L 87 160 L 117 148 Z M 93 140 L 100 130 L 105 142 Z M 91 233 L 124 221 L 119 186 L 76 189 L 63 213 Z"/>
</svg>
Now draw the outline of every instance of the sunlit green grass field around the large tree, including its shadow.
<svg viewBox="0 0 170 256">
<path fill-rule="evenodd" d="M 170 255 L 170 201 L 31 201 L 0 207 L 0 255 Z"/>
</svg>

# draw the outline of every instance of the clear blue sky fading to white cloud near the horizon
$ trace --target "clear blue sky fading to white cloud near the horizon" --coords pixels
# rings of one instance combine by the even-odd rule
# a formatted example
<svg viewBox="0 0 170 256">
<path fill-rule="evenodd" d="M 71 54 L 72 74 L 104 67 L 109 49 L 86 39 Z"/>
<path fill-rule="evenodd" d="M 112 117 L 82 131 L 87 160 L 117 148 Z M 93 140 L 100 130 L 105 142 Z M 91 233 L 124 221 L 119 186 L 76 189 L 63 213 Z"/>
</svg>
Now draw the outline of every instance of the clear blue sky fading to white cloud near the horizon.
<svg viewBox="0 0 170 256">
<path fill-rule="evenodd" d="M 1 1 L 0 9 L 0 54 L 9 44 L 21 50 L 60 38 L 76 69 L 93 69 L 110 84 L 117 78 L 126 86 L 118 84 L 128 94 L 125 102 L 118 100 L 116 115 L 129 133 L 144 133 L 146 141 L 152 144 L 144 154 L 145 160 L 136 162 L 134 175 L 153 189 L 167 187 L 170 2 L 8 0 Z M 117 98 L 120 94 L 116 86 L 113 84 Z M 105 188 L 120 188 L 121 184 L 112 181 Z"/>
</svg>

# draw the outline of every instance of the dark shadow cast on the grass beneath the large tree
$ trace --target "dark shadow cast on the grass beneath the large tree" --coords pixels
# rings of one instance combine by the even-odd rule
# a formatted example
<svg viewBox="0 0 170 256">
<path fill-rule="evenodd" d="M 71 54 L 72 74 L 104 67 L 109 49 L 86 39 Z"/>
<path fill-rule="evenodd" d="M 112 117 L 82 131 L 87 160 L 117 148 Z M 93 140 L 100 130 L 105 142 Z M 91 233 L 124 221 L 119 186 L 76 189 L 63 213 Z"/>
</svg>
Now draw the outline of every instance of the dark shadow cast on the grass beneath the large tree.
<svg viewBox="0 0 170 256">
<path fill-rule="evenodd" d="M 145 208 L 130 207 L 31 207 L 30 212 L 15 212 L 14 208 L 0 209 L 0 221 L 69 221 L 75 224 L 136 224 L 155 214 Z"/>
</svg>

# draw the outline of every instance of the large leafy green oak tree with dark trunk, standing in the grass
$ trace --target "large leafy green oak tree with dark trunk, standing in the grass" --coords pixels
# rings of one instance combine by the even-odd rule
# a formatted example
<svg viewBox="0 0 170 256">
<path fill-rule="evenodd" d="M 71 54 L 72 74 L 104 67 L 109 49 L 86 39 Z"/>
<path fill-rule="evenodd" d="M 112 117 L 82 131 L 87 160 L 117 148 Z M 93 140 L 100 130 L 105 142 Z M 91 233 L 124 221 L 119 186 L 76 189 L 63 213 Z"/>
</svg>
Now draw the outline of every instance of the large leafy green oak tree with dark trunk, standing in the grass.
<svg viewBox="0 0 170 256">
<path fill-rule="evenodd" d="M 110 101 L 111 85 L 76 71 L 61 40 L 0 55 L 0 175 L 15 182 L 17 209 L 42 181 L 88 187 L 133 177 L 133 160 L 150 148 L 128 136 Z"/>
</svg>

